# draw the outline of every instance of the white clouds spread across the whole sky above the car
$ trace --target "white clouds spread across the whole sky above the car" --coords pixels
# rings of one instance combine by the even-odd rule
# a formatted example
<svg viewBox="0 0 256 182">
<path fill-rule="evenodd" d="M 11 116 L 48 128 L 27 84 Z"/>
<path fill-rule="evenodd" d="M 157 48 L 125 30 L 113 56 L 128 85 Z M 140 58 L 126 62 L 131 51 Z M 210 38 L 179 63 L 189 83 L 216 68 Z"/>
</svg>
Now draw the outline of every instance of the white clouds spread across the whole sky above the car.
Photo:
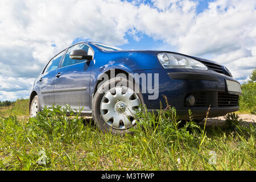
<svg viewBox="0 0 256 182">
<path fill-rule="evenodd" d="M 1 0 L 0 100 L 28 97 L 32 80 L 76 38 L 119 46 L 143 35 L 225 64 L 245 81 L 256 67 L 256 2 Z M 175 50 L 174 50 L 175 49 Z"/>
</svg>

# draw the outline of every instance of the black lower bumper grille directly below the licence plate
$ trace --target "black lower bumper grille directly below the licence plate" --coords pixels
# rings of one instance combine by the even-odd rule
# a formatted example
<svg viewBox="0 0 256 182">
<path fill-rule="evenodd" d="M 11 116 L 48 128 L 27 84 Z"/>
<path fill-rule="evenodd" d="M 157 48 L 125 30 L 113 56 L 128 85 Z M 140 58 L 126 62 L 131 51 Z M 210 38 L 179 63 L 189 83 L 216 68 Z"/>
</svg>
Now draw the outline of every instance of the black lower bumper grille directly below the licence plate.
<svg viewBox="0 0 256 182">
<path fill-rule="evenodd" d="M 218 93 L 218 107 L 236 107 L 238 106 L 239 96 Z"/>
</svg>

